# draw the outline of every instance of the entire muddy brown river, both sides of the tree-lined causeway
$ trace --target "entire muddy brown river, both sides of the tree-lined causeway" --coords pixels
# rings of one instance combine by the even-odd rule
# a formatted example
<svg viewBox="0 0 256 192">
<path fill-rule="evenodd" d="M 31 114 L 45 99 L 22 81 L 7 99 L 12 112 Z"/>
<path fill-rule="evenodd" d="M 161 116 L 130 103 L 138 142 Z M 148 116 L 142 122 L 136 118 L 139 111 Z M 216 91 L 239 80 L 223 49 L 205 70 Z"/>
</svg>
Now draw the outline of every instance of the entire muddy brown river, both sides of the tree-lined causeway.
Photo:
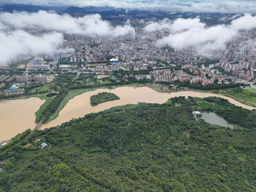
<svg viewBox="0 0 256 192">
<path fill-rule="evenodd" d="M 91 95 L 101 92 L 109 92 L 116 94 L 120 100 L 108 101 L 98 106 L 91 106 Z M 50 123 L 43 124 L 40 129 L 45 129 L 68 122 L 72 118 L 83 117 L 89 113 L 98 113 L 99 111 L 109 109 L 115 106 L 126 105 L 129 103 L 137 104 L 138 102 L 147 103 L 164 103 L 167 99 L 179 96 L 191 97 L 210 97 L 216 96 L 228 99 L 229 102 L 252 110 L 253 107 L 244 105 L 232 98 L 223 95 L 202 93 L 193 91 L 181 91 L 175 93 L 160 93 L 149 87 L 117 87 L 114 90 L 99 89 L 90 91 L 76 96 L 69 100 L 67 105 L 60 111 L 59 116 Z M 35 112 L 43 104 L 43 100 L 39 98 L 19 99 L 19 100 L 2 100 L 0 101 L 0 141 L 11 139 L 18 133 L 27 129 L 34 129 Z"/>
</svg>

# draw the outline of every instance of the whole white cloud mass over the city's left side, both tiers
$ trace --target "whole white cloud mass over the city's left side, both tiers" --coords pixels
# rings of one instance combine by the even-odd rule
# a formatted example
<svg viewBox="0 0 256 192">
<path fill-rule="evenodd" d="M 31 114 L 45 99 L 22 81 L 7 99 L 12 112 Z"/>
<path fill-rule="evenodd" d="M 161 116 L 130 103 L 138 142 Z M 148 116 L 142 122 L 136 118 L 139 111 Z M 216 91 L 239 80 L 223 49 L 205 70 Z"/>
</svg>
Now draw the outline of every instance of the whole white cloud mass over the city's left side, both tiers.
<svg viewBox="0 0 256 192">
<path fill-rule="evenodd" d="M 10 32 L 11 31 L 11 32 Z M 32 35 L 29 31 L 44 35 Z M 112 26 L 99 14 L 73 18 L 46 11 L 37 13 L 0 13 L 0 65 L 19 55 L 54 53 L 63 42 L 62 33 L 86 36 L 119 36 L 134 34 L 130 25 Z"/>
</svg>

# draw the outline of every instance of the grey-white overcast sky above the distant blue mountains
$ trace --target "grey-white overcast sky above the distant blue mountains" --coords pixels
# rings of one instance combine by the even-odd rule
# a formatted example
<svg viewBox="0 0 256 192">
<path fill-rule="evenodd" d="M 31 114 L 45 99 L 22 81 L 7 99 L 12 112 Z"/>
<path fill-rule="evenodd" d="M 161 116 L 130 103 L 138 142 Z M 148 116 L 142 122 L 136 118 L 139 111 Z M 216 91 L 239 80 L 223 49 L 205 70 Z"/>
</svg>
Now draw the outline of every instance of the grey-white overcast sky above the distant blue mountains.
<svg viewBox="0 0 256 192">
<path fill-rule="evenodd" d="M 1 0 L 1 2 L 50 6 L 113 6 L 127 10 L 163 10 L 168 12 L 256 13 L 255 0 Z"/>
</svg>

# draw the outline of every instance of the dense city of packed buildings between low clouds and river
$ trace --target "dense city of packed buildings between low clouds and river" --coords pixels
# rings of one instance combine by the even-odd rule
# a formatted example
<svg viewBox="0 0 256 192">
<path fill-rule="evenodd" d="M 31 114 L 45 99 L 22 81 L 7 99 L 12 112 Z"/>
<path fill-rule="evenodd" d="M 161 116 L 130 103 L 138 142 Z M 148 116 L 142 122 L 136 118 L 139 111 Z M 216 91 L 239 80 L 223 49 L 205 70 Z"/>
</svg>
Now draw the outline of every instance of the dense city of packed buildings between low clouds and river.
<svg viewBox="0 0 256 192">
<path fill-rule="evenodd" d="M 23 94 L 32 85 L 49 83 L 58 74 L 70 73 L 79 74 L 78 78 L 84 77 L 86 82 L 93 81 L 97 75 L 106 75 L 98 78 L 111 82 L 131 79 L 151 84 L 169 82 L 173 89 L 177 89 L 175 85 L 179 84 L 205 90 L 209 85 L 229 87 L 230 84 L 246 84 L 253 87 L 255 83 L 255 30 L 241 31 L 226 43 L 226 50 L 215 50 L 208 57 L 203 57 L 193 46 L 185 49 L 158 46 L 157 40 L 169 33 L 164 30 L 149 33 L 143 28 L 159 20 L 156 17 L 147 17 L 146 13 L 114 16 L 109 15 L 108 19 L 111 18 L 115 25 L 122 25 L 129 19 L 135 34 L 95 38 L 64 34 L 66 41 L 60 48 L 72 48 L 75 50 L 73 53 L 45 54 L 35 58 L 22 56 L 16 61 L 9 61 L 10 67 L 2 67 L 1 97 Z M 86 82 L 76 83 L 82 86 Z"/>
</svg>

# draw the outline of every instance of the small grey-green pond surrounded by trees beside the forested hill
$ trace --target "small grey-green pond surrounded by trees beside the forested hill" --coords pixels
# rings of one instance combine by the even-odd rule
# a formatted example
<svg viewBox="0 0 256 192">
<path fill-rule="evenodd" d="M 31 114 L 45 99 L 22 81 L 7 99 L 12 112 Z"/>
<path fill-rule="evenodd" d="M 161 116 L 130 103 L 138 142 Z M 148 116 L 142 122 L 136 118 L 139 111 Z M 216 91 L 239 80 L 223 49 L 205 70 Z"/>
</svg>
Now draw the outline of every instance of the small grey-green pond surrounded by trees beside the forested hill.
<svg viewBox="0 0 256 192">
<path fill-rule="evenodd" d="M 229 127 L 230 129 L 234 128 L 233 125 L 229 124 L 223 118 L 219 117 L 213 112 L 203 112 L 202 119 L 204 119 L 204 121 L 206 121 L 207 123 L 211 123 L 214 125 Z"/>
</svg>

